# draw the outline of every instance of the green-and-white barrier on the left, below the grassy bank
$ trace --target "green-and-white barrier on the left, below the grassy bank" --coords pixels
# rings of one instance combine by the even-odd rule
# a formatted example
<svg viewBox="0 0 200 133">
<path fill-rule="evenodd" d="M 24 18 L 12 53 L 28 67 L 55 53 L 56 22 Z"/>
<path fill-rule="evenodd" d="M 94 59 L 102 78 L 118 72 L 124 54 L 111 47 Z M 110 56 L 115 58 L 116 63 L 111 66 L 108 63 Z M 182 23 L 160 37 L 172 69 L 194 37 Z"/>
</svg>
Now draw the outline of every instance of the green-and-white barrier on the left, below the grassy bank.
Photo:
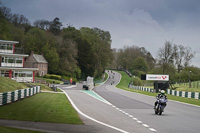
<svg viewBox="0 0 200 133">
<path fill-rule="evenodd" d="M 0 105 L 5 105 L 40 92 L 40 86 L 21 89 L 12 92 L 0 93 Z"/>
</svg>

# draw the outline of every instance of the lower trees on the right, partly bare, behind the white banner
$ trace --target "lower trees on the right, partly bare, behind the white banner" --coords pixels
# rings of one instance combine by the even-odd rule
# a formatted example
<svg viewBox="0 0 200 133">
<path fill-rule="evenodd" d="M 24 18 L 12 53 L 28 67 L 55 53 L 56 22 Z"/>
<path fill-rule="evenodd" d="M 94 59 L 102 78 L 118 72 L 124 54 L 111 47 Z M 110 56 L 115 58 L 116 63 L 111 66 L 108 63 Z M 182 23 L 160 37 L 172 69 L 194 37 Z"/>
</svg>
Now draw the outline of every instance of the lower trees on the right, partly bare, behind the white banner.
<svg viewBox="0 0 200 133">
<path fill-rule="evenodd" d="M 200 80 L 200 68 L 190 65 L 195 56 L 191 47 L 166 41 L 158 49 L 157 58 L 138 46 L 114 49 L 113 55 L 112 68 L 126 69 L 139 78 L 142 74 L 167 74 L 174 83 Z"/>
</svg>

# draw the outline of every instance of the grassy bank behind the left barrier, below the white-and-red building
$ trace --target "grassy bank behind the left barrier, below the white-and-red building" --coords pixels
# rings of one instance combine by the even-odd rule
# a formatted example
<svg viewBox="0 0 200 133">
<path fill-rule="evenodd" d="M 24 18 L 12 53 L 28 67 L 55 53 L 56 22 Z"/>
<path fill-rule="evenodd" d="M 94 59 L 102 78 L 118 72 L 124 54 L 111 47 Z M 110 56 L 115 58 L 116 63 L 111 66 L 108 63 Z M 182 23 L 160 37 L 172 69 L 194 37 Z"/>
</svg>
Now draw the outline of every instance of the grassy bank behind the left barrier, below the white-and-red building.
<svg viewBox="0 0 200 133">
<path fill-rule="evenodd" d="M 25 88 L 28 87 L 22 83 L 18 83 L 9 78 L 0 77 L 0 93 L 25 89 Z"/>
</svg>

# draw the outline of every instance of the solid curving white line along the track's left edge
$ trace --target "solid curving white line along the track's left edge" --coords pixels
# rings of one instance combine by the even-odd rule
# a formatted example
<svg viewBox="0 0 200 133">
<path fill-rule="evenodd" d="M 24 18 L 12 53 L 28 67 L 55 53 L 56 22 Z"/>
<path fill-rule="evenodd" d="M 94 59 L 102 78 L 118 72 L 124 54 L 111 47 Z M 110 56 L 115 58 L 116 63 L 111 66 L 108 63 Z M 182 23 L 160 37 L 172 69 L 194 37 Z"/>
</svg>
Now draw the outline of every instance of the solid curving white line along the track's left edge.
<svg viewBox="0 0 200 133">
<path fill-rule="evenodd" d="M 61 89 L 61 88 L 60 88 L 60 89 Z M 62 89 L 61 89 L 61 90 L 62 90 Z M 122 132 L 122 133 L 129 133 L 129 132 L 125 131 L 125 130 L 122 130 L 122 129 L 120 129 L 120 128 L 117 128 L 117 127 L 108 125 L 108 124 L 106 124 L 106 123 L 103 123 L 103 122 L 101 122 L 101 121 L 98 121 L 98 120 L 96 120 L 96 119 L 94 119 L 94 118 L 92 118 L 92 117 L 90 117 L 90 116 L 84 114 L 84 113 L 81 112 L 81 111 L 79 110 L 79 108 L 74 104 L 74 102 L 71 100 L 71 98 L 69 97 L 69 95 L 67 94 L 67 92 L 65 92 L 65 91 L 63 91 L 63 92 L 65 93 L 65 95 L 66 95 L 67 98 L 69 99 L 69 101 L 70 101 L 70 103 L 72 104 L 72 106 L 74 107 L 74 109 L 75 109 L 79 114 L 81 114 L 82 116 L 84 116 L 84 117 L 86 117 L 86 118 L 88 118 L 88 119 L 90 119 L 90 120 L 92 120 L 92 121 L 94 121 L 94 122 L 96 122 L 96 123 L 99 123 L 99 124 L 104 125 L 104 126 L 106 126 L 106 127 L 109 127 L 109 128 L 114 129 L 114 130 L 117 130 L 117 131 L 119 131 L 119 132 Z"/>
</svg>

